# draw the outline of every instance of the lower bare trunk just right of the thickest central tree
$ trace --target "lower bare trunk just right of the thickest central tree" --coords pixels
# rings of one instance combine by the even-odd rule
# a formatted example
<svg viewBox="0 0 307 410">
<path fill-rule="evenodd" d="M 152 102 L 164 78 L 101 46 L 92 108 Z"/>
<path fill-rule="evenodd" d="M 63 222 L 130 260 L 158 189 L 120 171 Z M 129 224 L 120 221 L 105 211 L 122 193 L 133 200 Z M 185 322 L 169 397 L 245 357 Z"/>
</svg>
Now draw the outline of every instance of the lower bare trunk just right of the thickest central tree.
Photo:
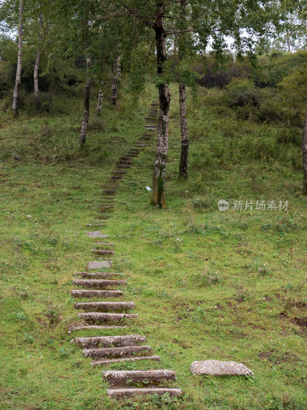
<svg viewBox="0 0 307 410">
<path fill-rule="evenodd" d="M 186 92 L 185 85 L 179 83 L 179 115 L 181 130 L 181 154 L 179 163 L 179 178 L 188 179 L 189 137 L 186 118 Z"/>
</svg>

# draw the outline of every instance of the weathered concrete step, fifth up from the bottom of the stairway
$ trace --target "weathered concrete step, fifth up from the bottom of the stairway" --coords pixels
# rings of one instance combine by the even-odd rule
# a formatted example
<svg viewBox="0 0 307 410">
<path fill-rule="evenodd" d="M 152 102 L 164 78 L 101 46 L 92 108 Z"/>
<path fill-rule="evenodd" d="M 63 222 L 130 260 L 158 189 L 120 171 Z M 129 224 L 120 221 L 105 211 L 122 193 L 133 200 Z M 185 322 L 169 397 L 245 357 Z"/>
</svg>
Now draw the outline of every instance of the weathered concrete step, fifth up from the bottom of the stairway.
<svg viewBox="0 0 307 410">
<path fill-rule="evenodd" d="M 96 336 L 96 337 L 76 337 L 71 340 L 80 347 L 125 347 L 135 346 L 136 343 L 146 342 L 146 337 L 141 335 L 125 335 L 125 336 Z"/>
</svg>

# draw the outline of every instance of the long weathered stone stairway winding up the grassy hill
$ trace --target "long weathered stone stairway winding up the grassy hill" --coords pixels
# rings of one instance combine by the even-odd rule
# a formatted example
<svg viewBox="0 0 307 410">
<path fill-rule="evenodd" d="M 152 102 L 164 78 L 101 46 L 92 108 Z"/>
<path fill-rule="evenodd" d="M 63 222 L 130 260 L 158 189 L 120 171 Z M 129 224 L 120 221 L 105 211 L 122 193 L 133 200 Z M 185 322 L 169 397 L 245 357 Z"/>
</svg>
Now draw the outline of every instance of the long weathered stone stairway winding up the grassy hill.
<svg viewBox="0 0 307 410">
<path fill-rule="evenodd" d="M 111 178 L 103 186 L 101 203 L 97 205 L 100 215 L 93 219 L 86 226 L 101 227 L 110 220 L 114 211 L 114 199 L 117 184 L 121 182 L 133 163 L 142 147 L 146 147 L 146 141 L 152 139 L 157 130 L 158 103 L 151 104 L 151 110 L 146 117 L 146 132 L 142 134 L 135 146 L 119 158 L 116 168 L 112 172 Z M 122 288 L 126 284 L 123 274 L 120 272 L 97 272 L 97 269 L 112 268 L 112 258 L 114 256 L 114 243 L 108 242 L 108 235 L 104 235 L 100 230 L 88 232 L 91 238 L 103 238 L 104 242 L 95 242 L 92 252 L 97 257 L 87 264 L 85 272 L 75 273 L 76 279 L 73 284 L 76 289 L 71 294 L 74 298 L 117 298 L 123 295 Z M 98 239 L 99 240 L 99 239 Z M 91 272 L 95 271 L 95 272 Z M 86 300 L 86 299 L 85 299 Z M 135 309 L 133 301 L 80 301 L 74 303 L 79 312 L 77 317 L 81 323 L 71 325 L 69 330 L 99 330 L 99 329 L 128 329 L 128 323 L 138 317 L 135 313 L 130 313 Z M 129 313 L 127 313 L 129 312 Z M 95 337 L 75 337 L 71 342 L 83 348 L 83 355 L 93 359 L 92 366 L 106 366 L 108 364 L 124 361 L 147 360 L 160 361 L 160 356 L 152 355 L 151 346 L 146 344 L 146 337 L 142 335 L 119 335 L 119 336 L 95 336 Z M 107 395 L 110 398 L 121 399 L 134 395 L 158 394 L 162 396 L 167 393 L 170 397 L 179 397 L 181 389 L 159 387 L 161 383 L 176 381 L 176 373 L 173 371 L 158 370 L 117 370 L 102 372 L 103 378 L 109 383 Z M 138 385 L 136 388 L 135 385 Z"/>
</svg>

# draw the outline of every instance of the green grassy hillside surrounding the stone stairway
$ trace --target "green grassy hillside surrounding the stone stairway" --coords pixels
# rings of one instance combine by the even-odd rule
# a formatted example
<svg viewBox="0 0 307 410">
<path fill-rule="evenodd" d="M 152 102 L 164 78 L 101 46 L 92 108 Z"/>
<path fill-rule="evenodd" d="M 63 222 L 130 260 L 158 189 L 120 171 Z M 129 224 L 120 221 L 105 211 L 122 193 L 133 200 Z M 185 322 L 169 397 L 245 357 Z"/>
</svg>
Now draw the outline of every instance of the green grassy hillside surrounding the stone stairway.
<svg viewBox="0 0 307 410">
<path fill-rule="evenodd" d="M 171 93 L 177 88 L 172 85 Z M 184 393 L 171 402 L 107 399 L 102 368 L 91 368 L 67 332 L 77 322 L 72 275 L 93 260 L 85 223 L 98 215 L 93 206 L 100 185 L 141 135 L 156 91 L 148 86 L 137 108 L 130 109 L 123 91 L 119 109 L 105 102 L 102 119 L 92 116 L 83 152 L 77 149 L 77 97 L 66 115 L 4 115 L 0 409 L 305 408 L 307 200 L 299 147 L 277 141 L 284 128 L 278 122 L 238 118 L 223 104 L 223 93 L 200 89 L 198 101 L 188 98 L 188 181 L 177 179 L 180 127 L 173 94 L 167 208 L 152 208 L 145 190 L 153 138 L 118 189 L 103 230 L 115 243 L 115 268 L 128 279 L 122 300 L 135 301 L 139 314 L 129 333 L 145 335 L 161 356 L 161 363 L 111 368 L 175 370 Z M 94 112 L 94 96 L 92 106 Z M 47 137 L 41 136 L 46 127 Z M 289 210 L 219 212 L 219 199 L 289 200 Z M 243 362 L 255 379 L 193 377 L 191 362 L 205 359 Z"/>
</svg>

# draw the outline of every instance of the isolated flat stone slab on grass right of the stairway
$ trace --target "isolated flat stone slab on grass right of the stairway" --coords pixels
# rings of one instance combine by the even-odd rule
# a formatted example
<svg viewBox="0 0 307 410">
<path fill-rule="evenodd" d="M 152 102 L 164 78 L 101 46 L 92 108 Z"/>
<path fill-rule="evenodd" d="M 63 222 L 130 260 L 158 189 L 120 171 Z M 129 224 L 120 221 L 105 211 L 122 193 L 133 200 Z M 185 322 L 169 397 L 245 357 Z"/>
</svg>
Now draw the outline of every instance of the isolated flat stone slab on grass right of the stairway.
<svg viewBox="0 0 307 410">
<path fill-rule="evenodd" d="M 190 371 L 194 376 L 254 376 L 253 372 L 243 363 L 233 361 L 224 362 L 221 360 L 195 361 L 191 364 Z"/>
</svg>

